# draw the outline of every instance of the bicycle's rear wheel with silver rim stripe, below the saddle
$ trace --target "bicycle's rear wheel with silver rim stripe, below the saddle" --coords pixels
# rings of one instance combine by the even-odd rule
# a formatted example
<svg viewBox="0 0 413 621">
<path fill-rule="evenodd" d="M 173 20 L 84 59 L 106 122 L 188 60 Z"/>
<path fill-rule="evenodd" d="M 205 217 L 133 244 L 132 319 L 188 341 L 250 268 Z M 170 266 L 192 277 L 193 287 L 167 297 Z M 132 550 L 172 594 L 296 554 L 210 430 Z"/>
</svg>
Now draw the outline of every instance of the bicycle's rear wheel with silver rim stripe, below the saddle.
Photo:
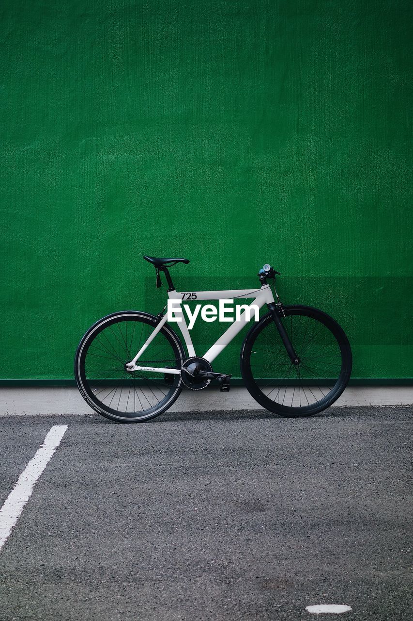
<svg viewBox="0 0 413 621">
<path fill-rule="evenodd" d="M 167 410 L 179 396 L 179 374 L 127 371 L 130 362 L 157 325 L 144 312 L 123 311 L 92 325 L 74 359 L 74 376 L 85 401 L 96 412 L 120 422 L 143 422 Z M 139 364 L 180 369 L 185 351 L 175 332 L 164 325 Z"/>
</svg>

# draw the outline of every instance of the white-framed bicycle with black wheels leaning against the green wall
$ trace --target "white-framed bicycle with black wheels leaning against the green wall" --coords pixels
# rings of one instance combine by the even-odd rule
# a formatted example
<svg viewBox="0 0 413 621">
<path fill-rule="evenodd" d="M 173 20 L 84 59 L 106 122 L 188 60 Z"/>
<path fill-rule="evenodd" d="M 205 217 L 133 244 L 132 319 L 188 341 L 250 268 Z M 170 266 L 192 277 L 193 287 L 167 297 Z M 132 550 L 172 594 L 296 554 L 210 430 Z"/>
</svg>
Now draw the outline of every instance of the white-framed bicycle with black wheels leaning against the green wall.
<svg viewBox="0 0 413 621">
<path fill-rule="evenodd" d="M 247 332 L 240 367 L 255 401 L 281 416 L 304 417 L 331 406 L 342 394 L 352 370 L 344 330 L 319 309 L 284 306 L 275 290 L 279 272 L 269 264 L 257 274 L 259 289 L 179 292 L 169 268 L 188 259 L 144 259 L 155 267 L 157 287 L 164 273 L 169 300 L 254 301 L 203 356 L 195 353 L 182 311 L 175 317 L 186 349 L 167 323 L 166 306 L 158 315 L 122 311 L 99 319 L 82 337 L 74 359 L 79 391 L 96 412 L 116 421 L 144 422 L 171 407 L 183 388 L 199 391 L 217 380 L 221 391 L 229 391 L 231 375 L 213 371 L 211 363 L 247 325 L 254 304 L 266 304 L 268 312 Z"/>
</svg>

